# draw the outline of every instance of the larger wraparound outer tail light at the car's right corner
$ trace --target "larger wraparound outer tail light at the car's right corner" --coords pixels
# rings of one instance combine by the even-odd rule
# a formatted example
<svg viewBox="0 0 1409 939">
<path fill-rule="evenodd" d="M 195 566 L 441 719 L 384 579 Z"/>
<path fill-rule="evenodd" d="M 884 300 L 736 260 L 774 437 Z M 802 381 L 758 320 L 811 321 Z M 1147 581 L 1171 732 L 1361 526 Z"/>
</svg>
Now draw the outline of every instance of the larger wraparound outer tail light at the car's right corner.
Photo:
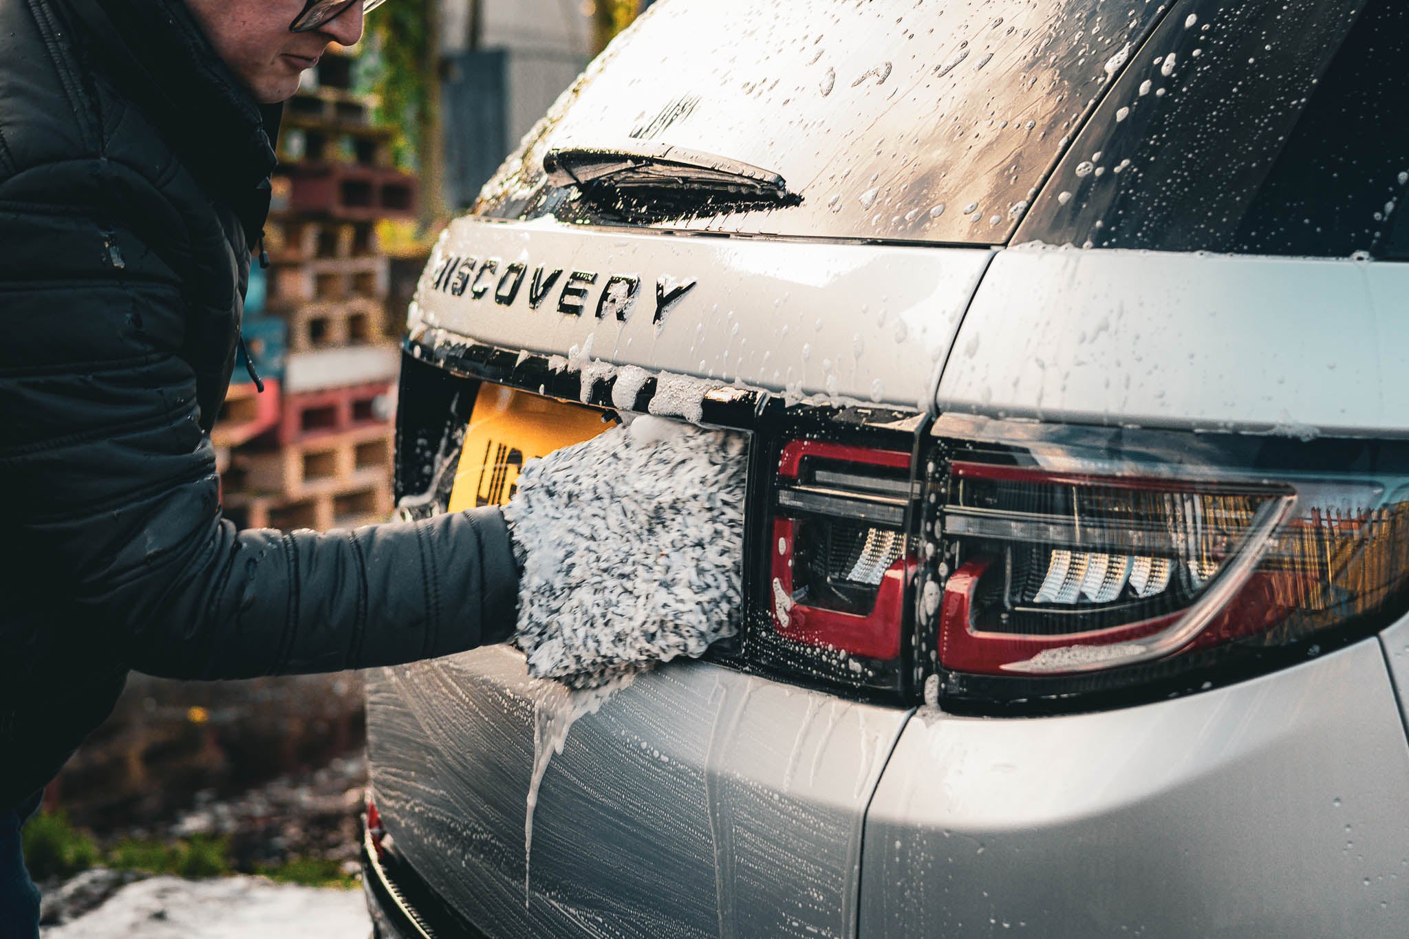
<svg viewBox="0 0 1409 939">
<path fill-rule="evenodd" d="M 961 697 L 1005 693 L 968 676 L 1026 697 L 1316 652 L 1409 600 L 1402 445 L 936 431 L 955 436 L 930 463 L 921 614 Z"/>
</svg>

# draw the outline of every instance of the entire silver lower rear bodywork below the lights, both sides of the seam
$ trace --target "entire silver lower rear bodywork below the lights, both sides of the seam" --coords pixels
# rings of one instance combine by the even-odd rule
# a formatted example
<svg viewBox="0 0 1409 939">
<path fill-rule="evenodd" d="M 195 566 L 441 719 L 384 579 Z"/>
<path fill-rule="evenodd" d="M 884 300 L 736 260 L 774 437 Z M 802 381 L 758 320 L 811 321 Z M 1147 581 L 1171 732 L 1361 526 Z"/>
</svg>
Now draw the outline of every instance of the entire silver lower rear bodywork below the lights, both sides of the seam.
<svg viewBox="0 0 1409 939">
<path fill-rule="evenodd" d="M 386 919 L 454 908 L 496 939 L 1005 924 L 1402 936 L 1409 922 L 1409 743 L 1377 639 L 1185 698 L 1024 719 L 674 666 L 597 702 L 552 757 L 526 893 L 545 694 L 561 690 L 507 649 L 372 677 L 373 791 L 426 878 L 407 881 L 423 901 L 382 890 Z M 369 895 L 387 880 L 369 871 Z"/>
</svg>

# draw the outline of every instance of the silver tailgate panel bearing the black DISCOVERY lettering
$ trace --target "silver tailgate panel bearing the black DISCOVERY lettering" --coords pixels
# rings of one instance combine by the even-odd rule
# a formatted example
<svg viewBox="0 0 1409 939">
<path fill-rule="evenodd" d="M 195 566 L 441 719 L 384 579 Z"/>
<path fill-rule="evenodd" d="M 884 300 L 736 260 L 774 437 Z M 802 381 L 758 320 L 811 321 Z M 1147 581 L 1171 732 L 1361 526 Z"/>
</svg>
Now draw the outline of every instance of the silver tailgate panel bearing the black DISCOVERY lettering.
<svg viewBox="0 0 1409 939">
<path fill-rule="evenodd" d="M 461 296 L 435 289 L 449 258 L 478 265 Z M 954 331 L 992 252 L 805 241 L 661 237 L 557 222 L 459 218 L 435 245 L 410 328 L 440 327 L 509 349 L 924 410 Z M 486 260 L 495 267 L 480 279 Z M 513 303 L 499 277 L 523 263 Z M 538 308 L 537 267 L 561 270 Z M 588 272 L 583 313 L 558 311 L 565 277 Z M 595 311 L 610 276 L 640 280 L 626 320 Z M 544 275 L 547 277 L 547 273 Z M 483 293 L 473 296 L 476 279 Z M 695 286 L 655 322 L 655 290 Z M 509 296 L 506 286 L 502 296 Z"/>
</svg>

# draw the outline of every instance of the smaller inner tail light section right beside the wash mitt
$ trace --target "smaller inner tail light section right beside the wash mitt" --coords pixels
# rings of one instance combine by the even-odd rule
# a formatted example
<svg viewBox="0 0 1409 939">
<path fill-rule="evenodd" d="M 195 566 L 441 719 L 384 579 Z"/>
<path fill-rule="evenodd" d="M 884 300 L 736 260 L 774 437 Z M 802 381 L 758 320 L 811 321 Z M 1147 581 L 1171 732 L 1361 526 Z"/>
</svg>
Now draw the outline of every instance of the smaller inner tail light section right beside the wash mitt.
<svg viewBox="0 0 1409 939">
<path fill-rule="evenodd" d="M 775 490 L 772 625 L 795 642 L 896 659 L 916 563 L 910 453 L 790 441 Z"/>
</svg>

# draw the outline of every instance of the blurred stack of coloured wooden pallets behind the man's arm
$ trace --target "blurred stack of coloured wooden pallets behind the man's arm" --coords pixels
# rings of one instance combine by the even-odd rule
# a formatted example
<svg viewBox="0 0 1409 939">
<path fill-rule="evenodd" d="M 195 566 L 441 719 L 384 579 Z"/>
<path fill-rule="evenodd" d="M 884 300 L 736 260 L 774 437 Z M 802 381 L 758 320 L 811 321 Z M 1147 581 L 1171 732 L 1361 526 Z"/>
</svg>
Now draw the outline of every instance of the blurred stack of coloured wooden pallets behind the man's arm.
<svg viewBox="0 0 1409 939">
<path fill-rule="evenodd" d="M 416 179 L 390 166 L 392 130 L 335 49 L 285 106 L 269 267 L 244 327 L 265 391 L 240 363 L 211 435 L 225 514 L 245 528 L 348 528 L 393 508 L 399 353 L 376 222 L 414 214 Z"/>
</svg>

